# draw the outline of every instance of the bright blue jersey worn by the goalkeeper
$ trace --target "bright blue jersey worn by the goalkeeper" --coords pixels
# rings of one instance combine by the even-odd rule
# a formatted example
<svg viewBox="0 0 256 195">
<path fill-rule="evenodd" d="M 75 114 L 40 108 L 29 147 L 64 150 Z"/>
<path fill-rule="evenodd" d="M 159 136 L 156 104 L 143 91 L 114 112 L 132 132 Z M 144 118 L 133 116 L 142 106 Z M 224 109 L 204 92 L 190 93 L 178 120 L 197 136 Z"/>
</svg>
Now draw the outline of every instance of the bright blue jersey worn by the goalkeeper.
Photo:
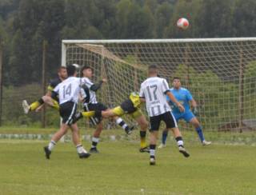
<svg viewBox="0 0 256 195">
<path fill-rule="evenodd" d="M 174 88 L 170 89 L 170 92 L 174 94 L 174 97 L 177 99 L 178 102 L 180 102 L 183 107 L 185 108 L 185 112 L 190 110 L 190 101 L 193 99 L 192 95 L 190 94 L 189 90 L 186 90 L 186 88 L 181 87 L 180 89 L 176 90 Z M 170 107 L 172 109 L 173 113 L 181 113 L 176 105 L 172 101 L 170 101 L 170 98 L 166 96 L 167 101 L 170 104 Z"/>
</svg>

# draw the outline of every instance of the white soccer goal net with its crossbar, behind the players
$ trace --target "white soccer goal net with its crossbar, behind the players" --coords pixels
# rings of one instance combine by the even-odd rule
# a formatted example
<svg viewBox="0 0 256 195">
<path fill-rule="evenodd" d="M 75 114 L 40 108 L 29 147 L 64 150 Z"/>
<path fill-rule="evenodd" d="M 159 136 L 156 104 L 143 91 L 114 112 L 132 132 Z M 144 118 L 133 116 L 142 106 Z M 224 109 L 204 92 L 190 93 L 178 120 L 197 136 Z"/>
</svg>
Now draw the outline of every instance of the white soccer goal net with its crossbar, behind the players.
<svg viewBox="0 0 256 195">
<path fill-rule="evenodd" d="M 170 86 L 180 77 L 190 90 L 204 129 L 255 127 L 256 38 L 63 40 L 62 65 L 73 63 L 91 66 L 94 82 L 108 80 L 98 100 L 109 107 L 138 91 L 146 68 L 157 65 Z"/>
</svg>

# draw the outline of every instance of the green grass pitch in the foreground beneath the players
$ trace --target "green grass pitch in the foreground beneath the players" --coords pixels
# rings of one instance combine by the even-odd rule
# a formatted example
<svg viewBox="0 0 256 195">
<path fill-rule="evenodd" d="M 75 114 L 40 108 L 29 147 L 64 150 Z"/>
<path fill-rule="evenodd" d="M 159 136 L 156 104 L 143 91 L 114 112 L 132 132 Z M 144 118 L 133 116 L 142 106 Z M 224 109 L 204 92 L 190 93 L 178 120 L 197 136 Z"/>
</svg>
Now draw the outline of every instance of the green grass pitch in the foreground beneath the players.
<svg viewBox="0 0 256 195">
<path fill-rule="evenodd" d="M 256 148 L 174 143 L 157 150 L 157 165 L 138 153 L 138 141 L 102 141 L 101 153 L 79 159 L 59 143 L 50 161 L 46 141 L 0 140 L 0 194 L 255 194 Z M 90 143 L 85 142 L 86 149 Z"/>
</svg>

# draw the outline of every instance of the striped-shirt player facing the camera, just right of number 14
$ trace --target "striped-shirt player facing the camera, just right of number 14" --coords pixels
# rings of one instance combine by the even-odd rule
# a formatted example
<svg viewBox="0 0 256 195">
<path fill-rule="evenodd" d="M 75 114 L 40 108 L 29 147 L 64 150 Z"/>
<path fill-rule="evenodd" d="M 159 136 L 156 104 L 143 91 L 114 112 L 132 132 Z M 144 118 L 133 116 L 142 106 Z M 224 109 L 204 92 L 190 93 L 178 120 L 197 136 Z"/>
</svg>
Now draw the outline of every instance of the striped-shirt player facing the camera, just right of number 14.
<svg viewBox="0 0 256 195">
<path fill-rule="evenodd" d="M 102 81 L 98 83 L 91 82 L 90 79 L 93 77 L 93 70 L 90 66 L 83 66 L 81 72 L 83 76 L 82 82 L 86 84 L 86 89 L 88 89 L 81 90 L 84 111 L 106 110 L 106 105 L 98 102 L 96 98 L 96 92 L 101 88 L 102 83 L 106 82 L 106 79 L 103 78 Z M 126 125 L 126 122 L 123 121 L 121 117 L 114 117 L 114 120 L 118 125 L 122 127 L 122 129 L 126 131 L 127 134 L 132 132 L 133 128 L 130 128 L 128 125 Z M 96 130 L 94 131 L 92 138 L 90 153 L 98 153 L 97 145 L 103 129 L 102 117 L 90 117 L 90 121 L 93 125 L 96 125 Z"/>
</svg>

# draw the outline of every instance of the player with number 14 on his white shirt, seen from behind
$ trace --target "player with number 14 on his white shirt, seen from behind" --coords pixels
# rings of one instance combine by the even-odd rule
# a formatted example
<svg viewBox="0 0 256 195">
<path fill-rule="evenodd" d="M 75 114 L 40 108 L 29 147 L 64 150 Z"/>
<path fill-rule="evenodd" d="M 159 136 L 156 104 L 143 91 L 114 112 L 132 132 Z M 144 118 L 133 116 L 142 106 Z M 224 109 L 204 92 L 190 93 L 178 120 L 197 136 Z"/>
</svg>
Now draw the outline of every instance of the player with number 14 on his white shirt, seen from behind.
<svg viewBox="0 0 256 195">
<path fill-rule="evenodd" d="M 49 145 L 44 147 L 47 159 L 50 159 L 50 153 L 54 149 L 54 146 L 66 134 L 69 128 L 72 130 L 72 139 L 76 146 L 78 157 L 90 157 L 90 153 L 86 152 L 86 149 L 83 148 L 80 142 L 78 125 L 74 121 L 81 88 L 81 79 L 76 78 L 77 72 L 75 66 L 67 66 L 66 71 L 68 78 L 59 83 L 51 95 L 52 98 L 56 98 L 57 96 L 59 98 L 59 113 L 62 117 L 62 125 L 58 132 L 51 138 Z"/>
</svg>

